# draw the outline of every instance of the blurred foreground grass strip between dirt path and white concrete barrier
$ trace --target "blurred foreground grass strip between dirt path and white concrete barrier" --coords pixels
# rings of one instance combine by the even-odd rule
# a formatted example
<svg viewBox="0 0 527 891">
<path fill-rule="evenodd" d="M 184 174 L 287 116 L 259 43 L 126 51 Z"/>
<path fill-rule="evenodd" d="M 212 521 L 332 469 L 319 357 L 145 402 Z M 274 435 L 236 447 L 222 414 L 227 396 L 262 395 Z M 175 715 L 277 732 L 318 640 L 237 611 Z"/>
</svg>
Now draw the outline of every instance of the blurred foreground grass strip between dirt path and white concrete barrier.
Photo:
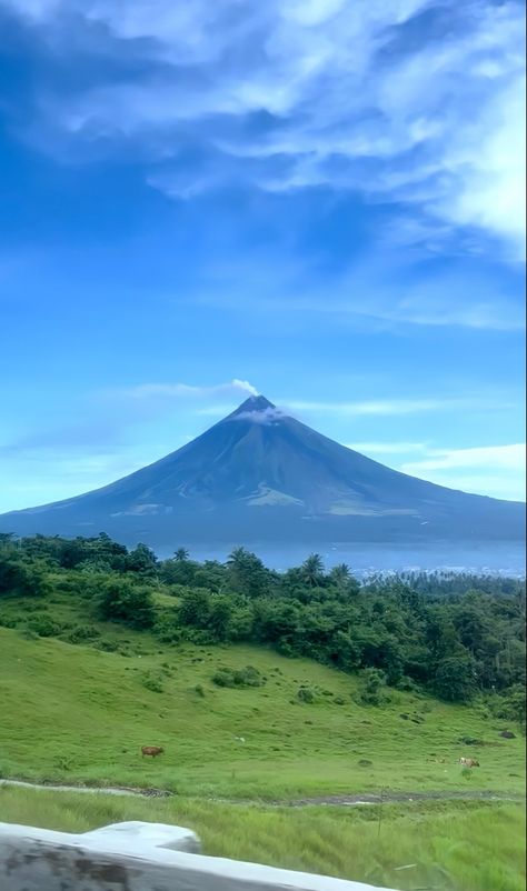
<svg viewBox="0 0 527 891">
<path fill-rule="evenodd" d="M 195 829 L 211 855 L 401 891 L 525 889 L 518 804 L 385 804 L 380 813 L 377 805 L 286 809 L 0 788 L 0 820 L 73 832 L 121 820 L 176 823 Z"/>
</svg>

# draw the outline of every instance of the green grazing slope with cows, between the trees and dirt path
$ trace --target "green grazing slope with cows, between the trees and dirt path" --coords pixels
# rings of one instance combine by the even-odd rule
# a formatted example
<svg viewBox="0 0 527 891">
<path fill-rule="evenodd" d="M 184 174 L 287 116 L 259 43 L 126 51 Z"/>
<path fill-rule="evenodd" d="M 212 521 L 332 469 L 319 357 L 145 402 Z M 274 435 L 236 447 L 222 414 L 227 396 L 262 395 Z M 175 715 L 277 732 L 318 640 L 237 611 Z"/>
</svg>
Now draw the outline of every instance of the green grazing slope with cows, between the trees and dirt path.
<svg viewBox="0 0 527 891">
<path fill-rule="evenodd" d="M 362 708 L 354 701 L 354 678 L 311 661 L 249 647 L 163 647 L 108 624 L 105 635 L 128 640 L 131 654 L 28 640 L 0 628 L 0 775 L 231 798 L 523 791 L 524 740 L 500 739 L 505 724 L 478 708 L 404 693 L 394 693 L 397 701 L 386 708 Z M 264 688 L 211 683 L 218 665 L 248 663 L 267 675 Z M 162 692 L 145 688 L 146 674 L 162 678 Z M 291 703 L 301 684 L 319 690 L 316 704 Z M 346 704 L 336 704 L 336 697 Z M 401 712 L 420 713 L 424 723 L 405 721 Z M 461 735 L 487 744 L 460 744 Z M 163 745 L 166 753 L 141 759 L 143 744 Z M 464 775 L 460 755 L 478 757 L 480 769 Z M 445 763 L 427 760 L 436 758 Z M 360 767 L 360 759 L 374 763 Z"/>
</svg>

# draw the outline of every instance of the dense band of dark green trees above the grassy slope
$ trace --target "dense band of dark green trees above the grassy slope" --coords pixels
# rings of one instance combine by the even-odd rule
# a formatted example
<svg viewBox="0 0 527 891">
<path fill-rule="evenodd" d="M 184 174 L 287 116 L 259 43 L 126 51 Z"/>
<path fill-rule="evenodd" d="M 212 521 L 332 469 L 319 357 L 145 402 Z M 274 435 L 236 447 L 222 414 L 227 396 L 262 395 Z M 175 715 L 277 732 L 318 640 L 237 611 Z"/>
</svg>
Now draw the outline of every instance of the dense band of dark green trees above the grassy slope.
<svg viewBox="0 0 527 891">
<path fill-rule="evenodd" d="M 87 598 L 93 614 L 149 629 L 166 643 L 250 642 L 372 685 L 426 689 L 525 724 L 525 582 L 470 574 L 389 575 L 359 582 L 345 564 L 310 554 L 285 572 L 236 548 L 226 562 L 179 548 L 158 560 L 146 544 L 108 535 L 0 538 L 0 598 Z M 160 605 L 159 593 L 167 598 Z"/>
</svg>

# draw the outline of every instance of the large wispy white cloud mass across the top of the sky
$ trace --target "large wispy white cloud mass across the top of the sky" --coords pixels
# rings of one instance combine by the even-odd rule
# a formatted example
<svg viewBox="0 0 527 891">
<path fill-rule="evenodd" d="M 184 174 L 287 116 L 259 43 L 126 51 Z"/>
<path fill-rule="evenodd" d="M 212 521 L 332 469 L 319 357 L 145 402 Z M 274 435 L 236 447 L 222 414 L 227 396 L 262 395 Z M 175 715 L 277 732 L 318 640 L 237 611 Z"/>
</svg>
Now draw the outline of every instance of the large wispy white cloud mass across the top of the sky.
<svg viewBox="0 0 527 891">
<path fill-rule="evenodd" d="M 359 191 L 439 241 L 470 230 L 523 251 L 516 0 L 3 4 L 54 53 L 122 62 L 119 78 L 66 97 L 40 89 L 32 138 L 46 150 L 140 147 L 150 183 L 183 198 L 232 184 Z"/>
</svg>

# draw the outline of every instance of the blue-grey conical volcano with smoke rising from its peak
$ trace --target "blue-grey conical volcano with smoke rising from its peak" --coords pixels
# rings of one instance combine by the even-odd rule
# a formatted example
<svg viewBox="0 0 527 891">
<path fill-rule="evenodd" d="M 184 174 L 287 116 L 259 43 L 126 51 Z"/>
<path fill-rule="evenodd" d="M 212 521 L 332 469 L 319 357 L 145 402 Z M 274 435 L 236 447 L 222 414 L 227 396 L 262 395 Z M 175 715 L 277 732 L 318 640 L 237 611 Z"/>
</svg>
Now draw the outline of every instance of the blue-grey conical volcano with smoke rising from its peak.
<svg viewBox="0 0 527 891">
<path fill-rule="evenodd" d="M 77 498 L 4 513 L 0 530 L 103 531 L 155 549 L 180 542 L 515 541 L 525 535 L 525 505 L 399 473 L 258 396 L 160 461 Z"/>
</svg>

